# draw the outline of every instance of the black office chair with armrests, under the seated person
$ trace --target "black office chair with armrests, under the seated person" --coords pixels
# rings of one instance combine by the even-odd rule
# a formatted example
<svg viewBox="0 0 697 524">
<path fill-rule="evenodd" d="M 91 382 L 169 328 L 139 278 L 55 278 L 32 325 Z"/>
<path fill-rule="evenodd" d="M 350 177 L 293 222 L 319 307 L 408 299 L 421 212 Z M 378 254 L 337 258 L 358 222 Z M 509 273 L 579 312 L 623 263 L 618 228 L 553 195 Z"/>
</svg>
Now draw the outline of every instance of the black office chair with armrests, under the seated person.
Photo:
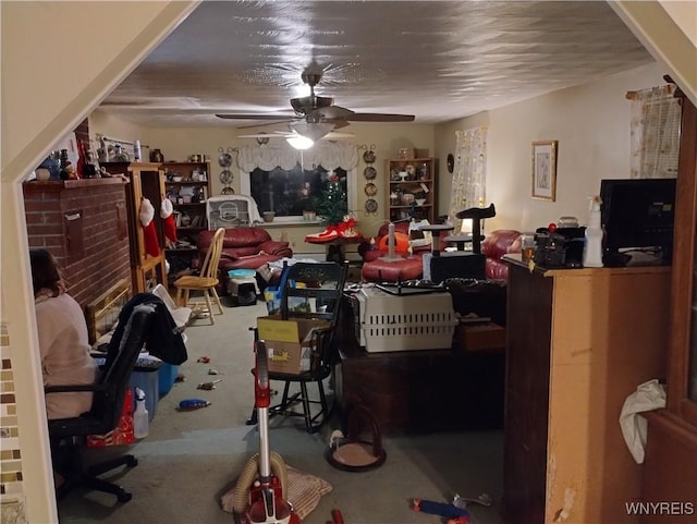
<svg viewBox="0 0 697 524">
<path fill-rule="evenodd" d="M 82 448 L 84 438 L 88 435 L 107 434 L 119 424 L 131 373 L 143 349 L 154 316 L 152 306 L 139 305 L 133 308 L 125 329 L 119 331 L 122 337 L 114 337 L 109 344 L 107 364 L 97 382 L 45 388 L 47 394 L 71 391 L 94 392 L 91 409 L 88 412 L 72 418 L 48 421 L 53 467 L 65 479 L 58 490 L 58 499 L 63 498 L 75 487 L 113 493 L 119 502 L 127 502 L 133 497 L 121 486 L 97 476 L 122 465 L 136 466 L 138 461 L 135 456 L 125 454 L 86 467 Z"/>
</svg>

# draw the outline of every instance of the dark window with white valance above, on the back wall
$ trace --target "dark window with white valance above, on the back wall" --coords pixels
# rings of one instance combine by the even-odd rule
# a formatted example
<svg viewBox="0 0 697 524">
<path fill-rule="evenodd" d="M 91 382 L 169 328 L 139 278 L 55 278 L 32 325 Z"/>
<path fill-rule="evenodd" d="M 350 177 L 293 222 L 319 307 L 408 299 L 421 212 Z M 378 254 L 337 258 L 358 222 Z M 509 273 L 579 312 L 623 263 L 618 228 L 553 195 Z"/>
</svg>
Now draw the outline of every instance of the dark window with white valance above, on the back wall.
<svg viewBox="0 0 697 524">
<path fill-rule="evenodd" d="M 346 171 L 339 168 L 327 171 L 321 166 L 291 170 L 280 167 L 270 171 L 257 168 L 249 173 L 252 197 L 259 212 L 276 211 L 276 217 L 299 217 L 303 211 L 318 211 L 318 204 L 327 191 L 330 176 L 337 175 L 346 194 Z"/>
</svg>

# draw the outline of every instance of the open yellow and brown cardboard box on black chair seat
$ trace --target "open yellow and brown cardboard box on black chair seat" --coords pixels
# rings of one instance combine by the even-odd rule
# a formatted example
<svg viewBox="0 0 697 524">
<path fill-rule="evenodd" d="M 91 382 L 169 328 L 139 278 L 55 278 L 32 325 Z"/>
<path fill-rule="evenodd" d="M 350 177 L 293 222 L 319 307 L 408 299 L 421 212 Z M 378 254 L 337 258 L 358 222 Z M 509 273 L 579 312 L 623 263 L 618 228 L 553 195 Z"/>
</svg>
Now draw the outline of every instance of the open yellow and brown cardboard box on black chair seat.
<svg viewBox="0 0 697 524">
<path fill-rule="evenodd" d="M 329 326 L 327 320 L 293 318 L 282 320 L 278 315 L 257 318 L 259 339 L 266 342 L 269 371 L 297 375 L 309 371 L 315 348 L 313 331 Z"/>
</svg>

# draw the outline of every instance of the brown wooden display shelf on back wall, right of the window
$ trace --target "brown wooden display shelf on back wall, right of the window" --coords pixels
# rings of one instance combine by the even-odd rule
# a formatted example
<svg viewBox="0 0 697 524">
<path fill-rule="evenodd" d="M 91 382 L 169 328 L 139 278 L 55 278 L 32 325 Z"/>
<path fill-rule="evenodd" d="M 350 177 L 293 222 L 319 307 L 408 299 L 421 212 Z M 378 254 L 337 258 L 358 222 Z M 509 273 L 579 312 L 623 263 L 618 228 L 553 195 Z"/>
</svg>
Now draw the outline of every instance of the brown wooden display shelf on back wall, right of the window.
<svg viewBox="0 0 697 524">
<path fill-rule="evenodd" d="M 387 160 L 386 176 L 388 219 L 404 220 L 414 214 L 416 220 L 436 223 L 438 188 L 435 158 Z"/>
</svg>

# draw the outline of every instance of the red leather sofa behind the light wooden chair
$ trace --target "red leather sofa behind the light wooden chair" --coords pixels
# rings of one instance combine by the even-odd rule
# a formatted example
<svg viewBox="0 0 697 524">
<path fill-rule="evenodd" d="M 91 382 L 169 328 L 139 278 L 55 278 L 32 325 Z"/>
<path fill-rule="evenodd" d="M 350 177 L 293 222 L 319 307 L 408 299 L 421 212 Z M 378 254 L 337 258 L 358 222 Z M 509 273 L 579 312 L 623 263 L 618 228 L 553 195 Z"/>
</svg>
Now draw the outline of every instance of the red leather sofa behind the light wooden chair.
<svg viewBox="0 0 697 524">
<path fill-rule="evenodd" d="M 198 234 L 197 247 L 199 256 L 206 256 L 215 231 L 201 231 Z M 228 271 L 231 269 L 258 269 L 261 266 L 291 258 L 293 249 L 288 242 L 274 241 L 262 228 L 231 228 L 225 230 L 222 254 L 218 269 L 221 285 L 219 291 L 225 293 Z"/>
</svg>

